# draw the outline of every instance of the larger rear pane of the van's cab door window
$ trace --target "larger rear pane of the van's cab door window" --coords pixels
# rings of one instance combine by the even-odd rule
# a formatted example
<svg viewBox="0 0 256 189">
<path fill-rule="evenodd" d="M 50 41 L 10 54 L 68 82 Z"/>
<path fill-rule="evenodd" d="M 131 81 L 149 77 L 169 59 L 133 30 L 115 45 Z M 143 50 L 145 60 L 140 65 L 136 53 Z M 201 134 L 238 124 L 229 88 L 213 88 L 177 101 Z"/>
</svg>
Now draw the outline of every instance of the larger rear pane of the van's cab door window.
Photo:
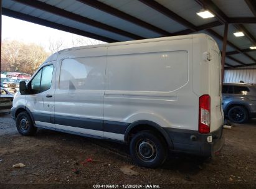
<svg viewBox="0 0 256 189">
<path fill-rule="evenodd" d="M 40 92 L 47 91 L 50 89 L 50 86 L 52 86 L 52 71 L 53 70 L 54 70 L 53 65 L 43 68 Z"/>
</svg>

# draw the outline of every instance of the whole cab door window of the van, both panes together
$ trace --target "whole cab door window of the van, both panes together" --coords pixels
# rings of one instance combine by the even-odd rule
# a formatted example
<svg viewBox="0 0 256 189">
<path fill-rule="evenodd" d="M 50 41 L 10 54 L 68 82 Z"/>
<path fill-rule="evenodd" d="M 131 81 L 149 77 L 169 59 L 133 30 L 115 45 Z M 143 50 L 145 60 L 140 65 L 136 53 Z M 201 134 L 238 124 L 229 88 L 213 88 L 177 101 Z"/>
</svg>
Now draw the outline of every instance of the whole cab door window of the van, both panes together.
<svg viewBox="0 0 256 189">
<path fill-rule="evenodd" d="M 42 68 L 31 81 L 31 90 L 33 94 L 42 93 L 50 89 L 52 85 L 53 65 Z"/>
</svg>

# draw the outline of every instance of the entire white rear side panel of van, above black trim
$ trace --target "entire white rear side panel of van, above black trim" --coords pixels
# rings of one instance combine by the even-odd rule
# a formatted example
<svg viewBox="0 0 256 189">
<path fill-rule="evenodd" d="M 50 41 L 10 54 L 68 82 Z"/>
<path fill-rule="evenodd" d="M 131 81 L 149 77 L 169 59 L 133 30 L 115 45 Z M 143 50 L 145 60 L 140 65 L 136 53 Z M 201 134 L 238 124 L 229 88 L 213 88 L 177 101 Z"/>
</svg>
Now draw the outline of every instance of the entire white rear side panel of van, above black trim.
<svg viewBox="0 0 256 189">
<path fill-rule="evenodd" d="M 104 120 L 197 130 L 191 52 L 192 39 L 108 47 Z"/>
</svg>

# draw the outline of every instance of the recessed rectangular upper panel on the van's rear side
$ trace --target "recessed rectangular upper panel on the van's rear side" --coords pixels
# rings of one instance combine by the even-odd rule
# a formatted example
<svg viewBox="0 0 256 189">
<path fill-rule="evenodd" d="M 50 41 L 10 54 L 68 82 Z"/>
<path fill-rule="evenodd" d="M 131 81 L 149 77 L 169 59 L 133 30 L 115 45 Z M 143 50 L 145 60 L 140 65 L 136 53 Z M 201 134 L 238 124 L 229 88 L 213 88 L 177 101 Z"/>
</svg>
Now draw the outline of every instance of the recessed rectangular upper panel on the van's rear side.
<svg viewBox="0 0 256 189">
<path fill-rule="evenodd" d="M 106 90 L 168 95 L 186 85 L 187 67 L 186 50 L 108 56 Z"/>
</svg>

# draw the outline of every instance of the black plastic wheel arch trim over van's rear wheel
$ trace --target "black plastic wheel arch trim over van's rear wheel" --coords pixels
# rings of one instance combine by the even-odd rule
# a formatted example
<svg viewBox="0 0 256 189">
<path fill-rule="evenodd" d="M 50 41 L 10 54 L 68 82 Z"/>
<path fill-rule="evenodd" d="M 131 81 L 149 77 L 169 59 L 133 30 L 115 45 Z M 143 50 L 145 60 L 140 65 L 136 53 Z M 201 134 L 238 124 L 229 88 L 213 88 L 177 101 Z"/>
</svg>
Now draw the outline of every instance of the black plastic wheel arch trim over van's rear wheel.
<svg viewBox="0 0 256 189">
<path fill-rule="evenodd" d="M 136 121 L 130 124 L 125 131 L 125 141 L 129 143 L 131 138 L 140 131 L 153 131 L 164 140 L 169 148 L 173 149 L 173 142 L 167 132 L 164 131 L 163 127 L 152 121 Z"/>
</svg>

